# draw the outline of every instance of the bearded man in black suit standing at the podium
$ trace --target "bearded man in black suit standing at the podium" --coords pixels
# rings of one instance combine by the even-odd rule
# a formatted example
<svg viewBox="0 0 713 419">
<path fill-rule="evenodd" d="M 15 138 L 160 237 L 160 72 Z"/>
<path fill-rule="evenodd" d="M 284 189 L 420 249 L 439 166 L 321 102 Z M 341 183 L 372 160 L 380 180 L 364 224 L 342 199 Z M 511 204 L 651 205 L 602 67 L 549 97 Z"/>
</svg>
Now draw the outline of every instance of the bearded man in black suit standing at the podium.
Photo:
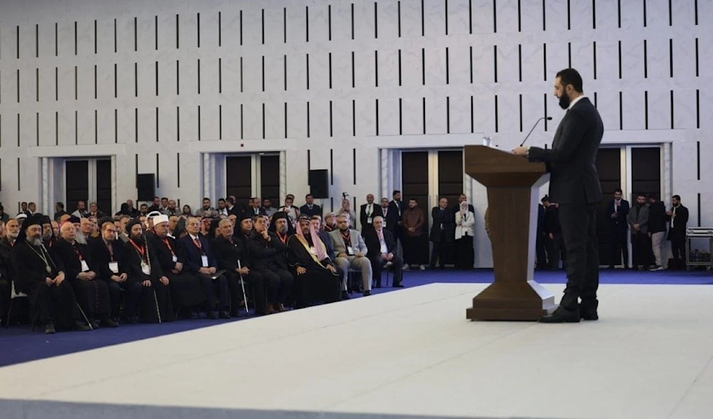
<svg viewBox="0 0 713 419">
<path fill-rule="evenodd" d="M 555 96 L 567 110 L 552 148 L 518 147 L 515 155 L 545 162 L 550 172 L 550 199 L 560 205 L 560 227 L 567 252 L 567 286 L 560 306 L 543 323 L 598 319 L 599 255 L 596 205 L 602 190 L 595 160 L 604 135 L 597 109 L 584 95 L 582 77 L 573 68 L 557 73 Z M 581 304 L 579 299 L 582 299 Z"/>
</svg>

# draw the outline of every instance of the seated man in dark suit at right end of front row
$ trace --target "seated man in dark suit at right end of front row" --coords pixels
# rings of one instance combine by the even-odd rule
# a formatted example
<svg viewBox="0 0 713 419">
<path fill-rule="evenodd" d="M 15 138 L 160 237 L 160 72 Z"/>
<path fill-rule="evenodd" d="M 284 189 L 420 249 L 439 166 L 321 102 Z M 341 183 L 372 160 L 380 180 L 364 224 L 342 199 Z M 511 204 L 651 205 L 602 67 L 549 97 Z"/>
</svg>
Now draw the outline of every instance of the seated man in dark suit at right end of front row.
<svg viewBox="0 0 713 419">
<path fill-rule="evenodd" d="M 394 288 L 403 288 L 404 259 L 396 254 L 396 239 L 394 234 L 384 228 L 384 217 L 374 217 L 374 228 L 364 233 L 366 257 L 371 262 L 371 277 L 376 279 L 376 288 L 381 288 L 381 268 L 391 263 L 394 267 Z"/>
</svg>

